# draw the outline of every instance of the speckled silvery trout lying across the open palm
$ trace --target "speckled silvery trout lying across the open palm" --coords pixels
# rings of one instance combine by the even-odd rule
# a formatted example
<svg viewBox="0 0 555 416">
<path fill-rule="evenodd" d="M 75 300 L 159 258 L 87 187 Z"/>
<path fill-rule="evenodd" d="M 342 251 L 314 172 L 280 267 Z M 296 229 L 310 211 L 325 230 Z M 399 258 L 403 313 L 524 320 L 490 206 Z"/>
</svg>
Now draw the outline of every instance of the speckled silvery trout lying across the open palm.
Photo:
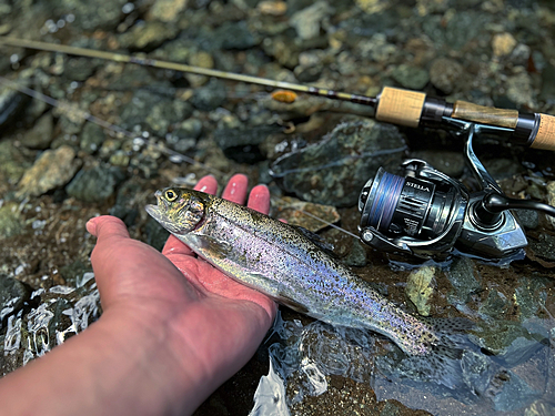
<svg viewBox="0 0 555 416">
<path fill-rule="evenodd" d="M 147 211 L 199 256 L 279 303 L 332 325 L 369 328 L 405 353 L 426 355 L 437 336 L 336 262 L 304 229 L 182 187 L 155 193 Z"/>
</svg>

